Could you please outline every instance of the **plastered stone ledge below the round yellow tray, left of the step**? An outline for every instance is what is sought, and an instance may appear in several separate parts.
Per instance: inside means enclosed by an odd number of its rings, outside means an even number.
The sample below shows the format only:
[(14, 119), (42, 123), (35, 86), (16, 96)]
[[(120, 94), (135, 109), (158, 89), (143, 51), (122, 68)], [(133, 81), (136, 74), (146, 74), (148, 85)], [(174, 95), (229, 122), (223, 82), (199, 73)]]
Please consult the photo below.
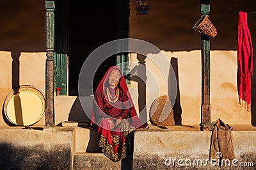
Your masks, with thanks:
[(2, 169), (72, 169), (73, 131), (0, 129)]

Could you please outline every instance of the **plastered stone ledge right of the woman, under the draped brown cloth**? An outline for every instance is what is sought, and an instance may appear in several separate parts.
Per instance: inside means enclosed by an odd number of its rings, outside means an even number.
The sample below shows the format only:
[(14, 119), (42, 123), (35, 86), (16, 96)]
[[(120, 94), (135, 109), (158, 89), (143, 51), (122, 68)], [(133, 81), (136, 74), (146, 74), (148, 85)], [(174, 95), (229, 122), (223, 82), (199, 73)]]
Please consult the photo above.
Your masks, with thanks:
[[(239, 162), (253, 162), (256, 168), (256, 132), (235, 131), (234, 150)], [(165, 166), (166, 158), (176, 160), (207, 160), (211, 144), (211, 132), (172, 131), (172, 130), (136, 130), (134, 132), (133, 169), (220, 169), (218, 166), (173, 167)], [(154, 148), (154, 149), (152, 149)], [(176, 162), (177, 164), (177, 162)], [(230, 167), (228, 167), (230, 169)], [(232, 167), (239, 169), (241, 167)], [(243, 169), (245, 169), (243, 167)]]

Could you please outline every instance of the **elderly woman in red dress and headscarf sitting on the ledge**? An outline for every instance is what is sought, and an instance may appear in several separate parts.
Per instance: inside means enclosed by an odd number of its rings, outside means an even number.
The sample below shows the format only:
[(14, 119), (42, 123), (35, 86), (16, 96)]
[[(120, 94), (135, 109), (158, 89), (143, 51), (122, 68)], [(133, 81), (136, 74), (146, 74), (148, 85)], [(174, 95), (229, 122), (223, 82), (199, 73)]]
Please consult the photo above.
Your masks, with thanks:
[(109, 68), (94, 96), (89, 125), (97, 125), (98, 146), (104, 155), (118, 162), (127, 155), (130, 127), (141, 127), (120, 68)]

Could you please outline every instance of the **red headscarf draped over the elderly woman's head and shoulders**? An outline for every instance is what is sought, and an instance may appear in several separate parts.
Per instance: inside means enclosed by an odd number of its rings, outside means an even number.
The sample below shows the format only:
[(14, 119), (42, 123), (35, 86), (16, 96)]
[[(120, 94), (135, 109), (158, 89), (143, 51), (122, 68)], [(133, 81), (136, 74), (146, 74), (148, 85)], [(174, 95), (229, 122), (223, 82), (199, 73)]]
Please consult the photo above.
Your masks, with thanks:
[[(128, 100), (132, 105), (132, 107), (131, 107), (131, 118), (129, 119), (130, 125), (132, 125), (132, 127), (140, 128), (141, 127), (141, 121), (138, 118), (137, 112), (136, 112), (134, 104), (132, 102), (131, 95), (130, 95), (130, 93), (128, 91), (128, 87), (125, 83), (124, 75), (122, 74), (122, 71), (120, 70), (120, 68), (118, 68), (118, 66), (111, 66), (108, 69), (108, 71), (105, 73), (104, 77), (100, 81), (99, 86), (97, 87), (97, 89), (95, 91), (95, 94), (100, 89), (104, 88), (104, 83), (108, 82), (109, 75), (111, 74), (113, 69), (118, 70), (120, 72), (120, 81), (118, 83), (118, 86), (119, 86), (120, 90), (122, 90), (124, 92), (123, 94), (125, 94), (129, 98)], [(93, 100), (93, 107), (94, 107), (95, 104), (97, 105), (97, 102), (95, 100)], [(93, 107), (92, 107), (92, 115), (91, 115), (90, 122), (89, 122), (90, 124), (95, 123), (95, 112), (94, 112)]]

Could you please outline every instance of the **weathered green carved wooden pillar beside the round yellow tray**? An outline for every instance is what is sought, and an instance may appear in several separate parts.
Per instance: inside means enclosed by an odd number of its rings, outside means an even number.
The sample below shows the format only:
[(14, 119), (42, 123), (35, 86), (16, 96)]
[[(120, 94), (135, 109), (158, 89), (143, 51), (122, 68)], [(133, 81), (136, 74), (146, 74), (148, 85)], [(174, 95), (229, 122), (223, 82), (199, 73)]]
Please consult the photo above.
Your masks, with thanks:
[(54, 126), (53, 50), (54, 1), (45, 1), (46, 72), (45, 72), (45, 126)]

